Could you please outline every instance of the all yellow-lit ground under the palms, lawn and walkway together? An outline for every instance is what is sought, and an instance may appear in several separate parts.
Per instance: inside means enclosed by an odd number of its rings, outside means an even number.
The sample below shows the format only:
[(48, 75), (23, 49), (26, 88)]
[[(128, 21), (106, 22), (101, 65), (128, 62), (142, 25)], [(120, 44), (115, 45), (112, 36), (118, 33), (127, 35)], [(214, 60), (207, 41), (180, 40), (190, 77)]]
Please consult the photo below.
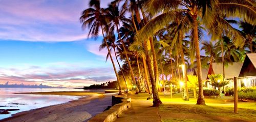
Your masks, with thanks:
[[(148, 94), (131, 95), (132, 108), (124, 112), (117, 121), (254, 121), (256, 102), (239, 102), (238, 114), (233, 113), (232, 97), (205, 99), (206, 106), (196, 105), (196, 99), (190, 95), (189, 101), (183, 101), (181, 94), (165, 97), (159, 93), (163, 105), (150, 107), (152, 100), (146, 101)], [(160, 120), (159, 120), (160, 119)]]

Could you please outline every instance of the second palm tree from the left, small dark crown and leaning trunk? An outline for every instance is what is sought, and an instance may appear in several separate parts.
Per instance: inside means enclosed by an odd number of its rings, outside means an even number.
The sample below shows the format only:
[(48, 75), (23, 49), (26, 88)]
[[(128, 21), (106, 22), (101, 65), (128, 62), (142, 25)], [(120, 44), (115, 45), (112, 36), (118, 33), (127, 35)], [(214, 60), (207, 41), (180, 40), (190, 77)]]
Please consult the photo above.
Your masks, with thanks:
[[(125, 21), (129, 21), (129, 19), (125, 18), (125, 13), (126, 13), (127, 9), (125, 7), (122, 7), (121, 11), (119, 11), (119, 5), (116, 2), (112, 2), (109, 5), (109, 7), (107, 8), (107, 11), (108, 11), (108, 16), (110, 17), (110, 20), (111, 20), (110, 23), (114, 24), (114, 25), (111, 25), (111, 26), (116, 26), (116, 31), (117, 31), (117, 34), (118, 34), (118, 38), (121, 41), (121, 44), (122, 44), (122, 47), (123, 47), (123, 50), (124, 50), (124, 54), (125, 54), (125, 57), (126, 57), (125, 59), (126, 59), (126, 62), (129, 65), (129, 68), (130, 68), (130, 71), (131, 71), (132, 79), (133, 79), (134, 82), (136, 82), (135, 76), (134, 76), (134, 73), (133, 73), (133, 69), (132, 69), (129, 57), (127, 55), (127, 51), (126, 51), (124, 42), (123, 42), (123, 40), (120, 36), (119, 27), (118, 27), (120, 25), (120, 22), (125, 23)], [(137, 86), (136, 86), (136, 89), (138, 89)], [(136, 94), (138, 94), (138, 91), (136, 92)]]

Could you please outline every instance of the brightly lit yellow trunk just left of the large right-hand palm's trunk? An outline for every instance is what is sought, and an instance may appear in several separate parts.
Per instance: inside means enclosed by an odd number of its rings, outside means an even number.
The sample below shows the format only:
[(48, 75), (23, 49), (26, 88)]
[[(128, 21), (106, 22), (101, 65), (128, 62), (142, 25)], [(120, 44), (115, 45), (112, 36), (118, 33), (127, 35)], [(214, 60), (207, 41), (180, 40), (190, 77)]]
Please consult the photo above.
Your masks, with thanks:
[[(181, 34), (181, 32), (180, 32)], [(179, 37), (180, 37), (180, 34), (179, 34)], [(181, 56), (181, 62), (182, 62), (182, 65), (184, 65), (184, 71), (182, 70), (182, 72), (184, 72), (184, 76), (183, 76), (183, 80), (184, 80), (184, 85), (185, 85), (185, 92), (184, 92), (184, 96), (183, 96), (183, 100), (185, 101), (189, 101), (189, 96), (188, 96), (188, 88), (187, 88), (187, 70), (186, 70), (186, 64), (185, 64), (185, 59), (184, 59), (184, 52), (183, 52), (183, 48), (182, 48), (182, 40), (181, 38), (179, 38), (179, 41), (180, 41), (180, 56)]]

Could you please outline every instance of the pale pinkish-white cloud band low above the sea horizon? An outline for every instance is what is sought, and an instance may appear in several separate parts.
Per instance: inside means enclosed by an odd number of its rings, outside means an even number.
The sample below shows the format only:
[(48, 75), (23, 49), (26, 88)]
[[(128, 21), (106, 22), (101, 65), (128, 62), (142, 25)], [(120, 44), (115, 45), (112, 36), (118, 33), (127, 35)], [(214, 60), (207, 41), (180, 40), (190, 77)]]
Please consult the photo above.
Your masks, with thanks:
[(112, 68), (65, 67), (0, 68), (0, 83), (40, 84), (62, 87), (82, 87), (115, 80)]

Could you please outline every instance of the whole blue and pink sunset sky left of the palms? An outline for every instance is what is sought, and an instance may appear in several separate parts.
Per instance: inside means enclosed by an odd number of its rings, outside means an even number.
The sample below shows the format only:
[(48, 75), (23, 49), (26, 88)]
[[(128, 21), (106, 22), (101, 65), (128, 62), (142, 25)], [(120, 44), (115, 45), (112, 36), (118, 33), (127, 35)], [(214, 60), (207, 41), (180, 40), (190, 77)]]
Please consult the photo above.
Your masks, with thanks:
[[(101, 1), (106, 7), (111, 0)], [(115, 80), (102, 37), (79, 17), (89, 0), (0, 0), (0, 84), (82, 87)]]

